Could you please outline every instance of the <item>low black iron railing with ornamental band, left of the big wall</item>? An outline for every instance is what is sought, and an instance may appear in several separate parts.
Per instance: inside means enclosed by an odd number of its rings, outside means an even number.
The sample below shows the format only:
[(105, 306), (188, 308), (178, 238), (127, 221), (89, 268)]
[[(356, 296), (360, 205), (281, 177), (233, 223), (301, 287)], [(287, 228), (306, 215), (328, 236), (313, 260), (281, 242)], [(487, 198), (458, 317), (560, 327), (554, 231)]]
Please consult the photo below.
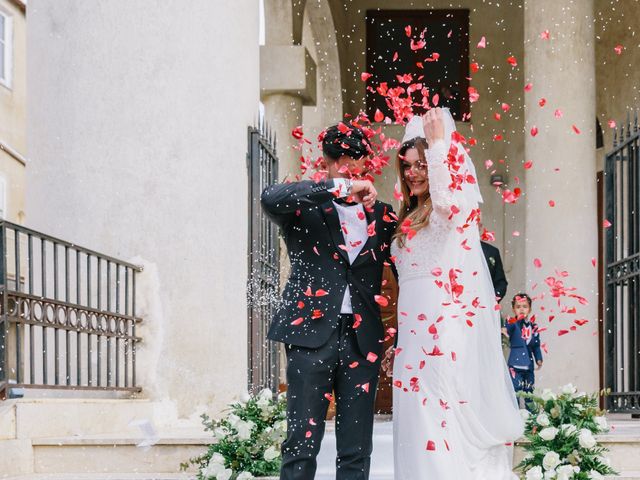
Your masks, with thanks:
[(0, 222), (0, 395), (139, 391), (139, 266)]

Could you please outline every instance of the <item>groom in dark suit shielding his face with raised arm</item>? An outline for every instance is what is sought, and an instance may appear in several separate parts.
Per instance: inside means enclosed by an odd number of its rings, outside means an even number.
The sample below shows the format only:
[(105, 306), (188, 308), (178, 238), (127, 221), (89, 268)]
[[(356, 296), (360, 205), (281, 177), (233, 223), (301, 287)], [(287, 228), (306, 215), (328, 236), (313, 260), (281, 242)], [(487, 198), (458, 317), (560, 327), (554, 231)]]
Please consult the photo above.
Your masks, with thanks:
[[(384, 328), (382, 270), (396, 221), (357, 179), (372, 153), (365, 133), (340, 124), (322, 139), (327, 180), (273, 185), (262, 206), (281, 229), (291, 273), (268, 338), (287, 354), (287, 439), (281, 480), (311, 480), (332, 396), (337, 480), (366, 480)], [(384, 302), (384, 300), (380, 300)]]

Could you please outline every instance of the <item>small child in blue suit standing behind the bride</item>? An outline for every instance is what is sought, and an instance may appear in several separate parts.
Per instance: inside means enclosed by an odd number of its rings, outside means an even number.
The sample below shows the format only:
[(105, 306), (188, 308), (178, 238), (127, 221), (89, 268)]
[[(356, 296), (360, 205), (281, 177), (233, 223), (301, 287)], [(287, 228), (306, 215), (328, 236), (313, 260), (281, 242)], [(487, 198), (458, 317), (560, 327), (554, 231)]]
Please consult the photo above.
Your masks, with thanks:
[[(503, 333), (509, 337), (511, 346), (507, 363), (516, 393), (533, 392), (534, 370), (539, 370), (542, 367), (540, 333), (538, 326), (529, 319), (531, 304), (531, 297), (526, 293), (514, 296), (511, 300), (511, 307), (515, 317), (507, 322), (507, 327), (503, 330)], [(529, 409), (529, 405), (527, 408)]]

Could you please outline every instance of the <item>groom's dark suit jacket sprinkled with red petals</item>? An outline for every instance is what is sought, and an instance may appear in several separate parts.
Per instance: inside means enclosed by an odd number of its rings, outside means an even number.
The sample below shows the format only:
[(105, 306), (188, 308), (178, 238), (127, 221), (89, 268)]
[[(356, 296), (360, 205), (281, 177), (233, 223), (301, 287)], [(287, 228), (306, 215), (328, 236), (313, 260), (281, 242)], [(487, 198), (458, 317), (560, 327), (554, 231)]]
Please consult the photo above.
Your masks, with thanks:
[(345, 288), (349, 285), (358, 346), (363, 355), (382, 353), (384, 328), (375, 296), (380, 294), (382, 269), (389, 262), (396, 228), (392, 207), (376, 202), (365, 214), (370, 235), (349, 263), (340, 219), (328, 189), (333, 180), (301, 181), (267, 187), (262, 193), (266, 214), (281, 229), (291, 272), (269, 329), (271, 340), (319, 348), (338, 325)]

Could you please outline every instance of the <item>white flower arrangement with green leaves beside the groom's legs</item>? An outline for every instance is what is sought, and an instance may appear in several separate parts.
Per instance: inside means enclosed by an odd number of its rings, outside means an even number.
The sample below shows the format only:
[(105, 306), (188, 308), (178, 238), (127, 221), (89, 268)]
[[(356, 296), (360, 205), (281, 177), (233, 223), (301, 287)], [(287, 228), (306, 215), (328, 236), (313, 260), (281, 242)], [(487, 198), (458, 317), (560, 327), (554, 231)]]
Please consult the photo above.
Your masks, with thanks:
[(250, 480), (278, 475), (280, 446), (287, 435), (286, 398), (274, 399), (269, 389), (246, 402), (229, 406), (220, 420), (202, 415), (205, 430), (213, 434), (207, 452), (182, 464), (198, 467), (198, 480)]

